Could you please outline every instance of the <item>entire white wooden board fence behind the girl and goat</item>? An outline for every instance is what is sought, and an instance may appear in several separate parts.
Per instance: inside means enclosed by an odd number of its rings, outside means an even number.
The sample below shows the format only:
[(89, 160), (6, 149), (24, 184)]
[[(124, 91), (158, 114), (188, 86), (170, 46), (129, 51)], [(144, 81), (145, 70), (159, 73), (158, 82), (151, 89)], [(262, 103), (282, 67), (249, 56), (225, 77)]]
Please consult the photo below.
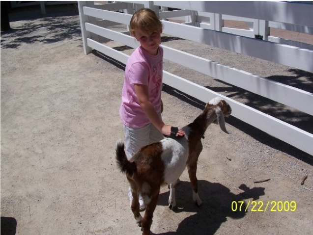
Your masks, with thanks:
[[(133, 0), (100, 5), (95, 5), (93, 1), (78, 1), (78, 5), (85, 54), (95, 49), (126, 64), (129, 56), (102, 44), (101, 38), (108, 38), (132, 48), (138, 47), (129, 33), (116, 32), (106, 27), (117, 24), (128, 25), (134, 10), (148, 7), (159, 14), (160, 19), (163, 19), (163, 32), (166, 34), (313, 73), (313, 50), (310, 50), (309, 45), (308, 48), (304, 49), (266, 40), (257, 40), (254, 37), (247, 37), (247, 35), (229, 34), (231, 32), (229, 29), (223, 29), (223, 18), (230, 19), (229, 16), (232, 16), (232, 20), (237, 18), (248, 21), (249, 19), (249, 21), (254, 22), (256, 25), (254, 26), (254, 33), (257, 31), (259, 35), (263, 34), (264, 39), (269, 39), (269, 30), (267, 29), (269, 24), (312, 34), (313, 4), (282, 1)], [(181, 10), (167, 11), (168, 7)], [(162, 9), (161, 12), (159, 12), (159, 8)], [(120, 10), (124, 10), (126, 13), (116, 12)], [(167, 21), (173, 17), (188, 17), (190, 22), (179, 24)], [(211, 28), (208, 29), (209, 27)], [(212, 27), (214, 30), (211, 30)], [(233, 31), (231, 33), (238, 34), (238, 32)], [(244, 33), (239, 34), (244, 35)], [(308, 115), (313, 115), (313, 94), (310, 92), (235, 68), (229, 68), (164, 45), (163, 48), (165, 59), (281, 104), (289, 105)], [(256, 50), (257, 48), (261, 50)], [(232, 106), (234, 117), (313, 155), (313, 134), (307, 131), (167, 71), (163, 72), (163, 81), (165, 84), (202, 102), (207, 102), (208, 99), (216, 96), (223, 97)]]

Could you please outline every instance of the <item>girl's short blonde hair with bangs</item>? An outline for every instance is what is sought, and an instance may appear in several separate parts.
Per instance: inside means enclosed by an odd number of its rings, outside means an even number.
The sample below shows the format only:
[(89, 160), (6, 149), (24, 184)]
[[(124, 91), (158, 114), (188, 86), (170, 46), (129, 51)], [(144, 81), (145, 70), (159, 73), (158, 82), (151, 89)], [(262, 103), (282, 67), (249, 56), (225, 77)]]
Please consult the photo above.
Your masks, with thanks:
[(149, 8), (142, 8), (134, 13), (130, 20), (130, 34), (135, 36), (136, 28), (146, 32), (160, 31), (162, 33), (163, 25), (154, 11)]

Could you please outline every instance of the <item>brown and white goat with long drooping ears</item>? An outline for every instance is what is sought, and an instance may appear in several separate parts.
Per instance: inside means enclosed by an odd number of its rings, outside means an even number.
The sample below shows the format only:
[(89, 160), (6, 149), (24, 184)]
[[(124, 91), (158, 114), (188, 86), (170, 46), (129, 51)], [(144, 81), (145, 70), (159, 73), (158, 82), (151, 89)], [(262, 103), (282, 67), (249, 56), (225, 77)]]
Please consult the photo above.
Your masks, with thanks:
[[(159, 142), (142, 147), (128, 160), (124, 143), (116, 143), (116, 162), (122, 173), (126, 174), (133, 195), (131, 209), (136, 222), (142, 226), (142, 235), (150, 234), (154, 209), (156, 208), (161, 185), (170, 184), (169, 208), (176, 206), (175, 186), (186, 166), (192, 185), (193, 200), (198, 206), (202, 201), (198, 195), (197, 162), (202, 151), (201, 137), (208, 126), (216, 121), (222, 131), (225, 128), (224, 116), (231, 114), (229, 104), (216, 97), (205, 105), (203, 112), (189, 125), (182, 128), (186, 132), (182, 138), (165, 138)], [(141, 193), (146, 205), (142, 218), (139, 211), (138, 196)]]

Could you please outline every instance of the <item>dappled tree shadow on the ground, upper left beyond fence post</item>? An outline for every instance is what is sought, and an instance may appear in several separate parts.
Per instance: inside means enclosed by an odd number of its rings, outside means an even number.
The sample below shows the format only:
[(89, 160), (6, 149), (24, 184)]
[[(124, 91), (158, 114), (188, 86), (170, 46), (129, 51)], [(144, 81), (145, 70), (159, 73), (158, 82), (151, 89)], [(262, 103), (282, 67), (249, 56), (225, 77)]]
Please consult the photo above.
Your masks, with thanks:
[[(9, 17), (13, 13), (15, 11), (11, 12)], [(37, 16), (36, 9), (31, 8), (27, 13), (32, 14), (15, 16), (15, 21), (19, 22), (11, 24), (11, 29), (0, 33), (1, 49), (18, 49), (22, 44), (29, 43), (49, 44), (64, 40), (82, 40), (79, 17), (73, 17), (71, 14), (67, 16), (66, 10)]]

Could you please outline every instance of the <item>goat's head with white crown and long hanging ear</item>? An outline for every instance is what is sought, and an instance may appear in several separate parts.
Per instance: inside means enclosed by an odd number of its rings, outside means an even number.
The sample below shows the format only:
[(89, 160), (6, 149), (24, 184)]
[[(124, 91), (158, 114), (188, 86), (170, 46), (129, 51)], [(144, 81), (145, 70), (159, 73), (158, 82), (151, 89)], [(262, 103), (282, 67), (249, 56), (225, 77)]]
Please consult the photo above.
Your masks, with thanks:
[[(220, 125), (221, 130), (224, 131), (225, 133), (228, 133), (225, 127), (224, 117), (228, 117), (231, 114), (230, 105), (221, 97), (216, 97), (210, 100), (209, 103), (205, 105), (205, 109), (207, 109), (207, 118), (211, 119), (208, 122), (208, 125), (211, 122), (216, 124), (218, 123)], [(213, 112), (216, 113), (216, 118), (215, 116), (214, 117), (212, 116)], [(212, 117), (214, 118), (214, 120), (212, 120)]]

